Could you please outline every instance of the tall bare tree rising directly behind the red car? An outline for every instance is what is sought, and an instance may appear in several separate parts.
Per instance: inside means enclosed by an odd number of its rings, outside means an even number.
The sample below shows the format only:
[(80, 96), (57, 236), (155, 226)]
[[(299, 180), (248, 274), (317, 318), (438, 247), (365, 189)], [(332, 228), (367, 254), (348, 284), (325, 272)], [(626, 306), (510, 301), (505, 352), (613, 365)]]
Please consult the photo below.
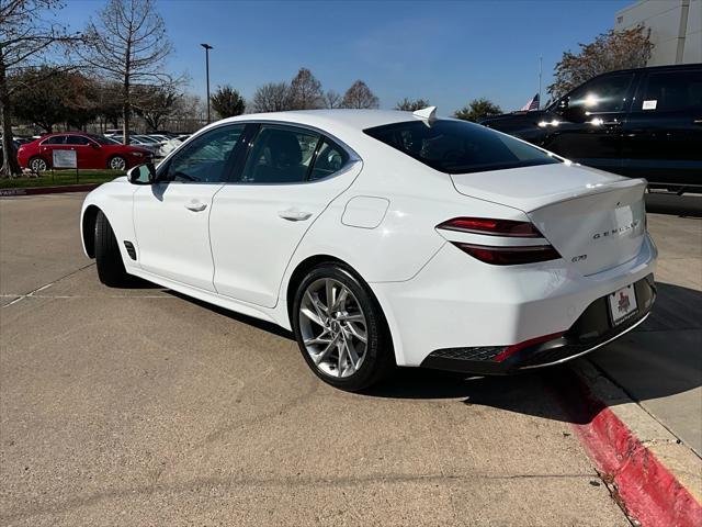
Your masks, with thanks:
[(172, 47), (155, 0), (107, 0), (86, 29), (89, 47), (83, 59), (122, 85), (124, 144), (129, 144), (129, 117), (135, 85), (163, 86), (173, 79), (163, 70)]

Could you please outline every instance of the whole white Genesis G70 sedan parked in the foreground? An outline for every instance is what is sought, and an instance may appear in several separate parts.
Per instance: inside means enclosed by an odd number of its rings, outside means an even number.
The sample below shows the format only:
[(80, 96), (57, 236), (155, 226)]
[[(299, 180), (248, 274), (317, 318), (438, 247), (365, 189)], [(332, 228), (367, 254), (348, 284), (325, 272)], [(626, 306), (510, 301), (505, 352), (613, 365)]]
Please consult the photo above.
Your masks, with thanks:
[(86, 254), (295, 334), (324, 381), (559, 363), (656, 292), (646, 182), (434, 109), (249, 114), (92, 191)]

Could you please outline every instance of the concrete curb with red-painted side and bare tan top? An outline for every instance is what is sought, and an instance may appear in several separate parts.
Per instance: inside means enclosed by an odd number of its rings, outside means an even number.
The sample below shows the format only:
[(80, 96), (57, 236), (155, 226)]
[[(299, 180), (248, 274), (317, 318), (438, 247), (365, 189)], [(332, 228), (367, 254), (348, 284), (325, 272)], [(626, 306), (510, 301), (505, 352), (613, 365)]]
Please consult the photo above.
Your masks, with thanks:
[(702, 460), (589, 361), (571, 370), (577, 390), (563, 388), (574, 427), (630, 518), (644, 527), (702, 525)]

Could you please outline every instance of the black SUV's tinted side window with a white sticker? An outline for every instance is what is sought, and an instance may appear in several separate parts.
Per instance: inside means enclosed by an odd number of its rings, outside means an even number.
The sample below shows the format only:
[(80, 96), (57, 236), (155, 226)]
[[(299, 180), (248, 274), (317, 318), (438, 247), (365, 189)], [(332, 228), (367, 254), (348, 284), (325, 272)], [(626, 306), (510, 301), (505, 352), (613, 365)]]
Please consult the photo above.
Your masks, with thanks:
[(675, 112), (702, 109), (702, 70), (650, 74), (637, 110)]

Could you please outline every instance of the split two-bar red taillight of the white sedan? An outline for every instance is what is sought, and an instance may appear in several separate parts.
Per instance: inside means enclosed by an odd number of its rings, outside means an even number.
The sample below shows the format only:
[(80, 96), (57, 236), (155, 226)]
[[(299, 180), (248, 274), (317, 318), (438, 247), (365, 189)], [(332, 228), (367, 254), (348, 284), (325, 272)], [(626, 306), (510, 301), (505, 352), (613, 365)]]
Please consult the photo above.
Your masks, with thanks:
[[(437, 225), (444, 231), (500, 236), (505, 238), (543, 238), (544, 235), (530, 222), (492, 220), (485, 217), (454, 217)], [(545, 242), (545, 239), (544, 239)], [(494, 266), (517, 266), (561, 258), (551, 244), (543, 245), (483, 245), (451, 240), (453, 245), (472, 257)]]

